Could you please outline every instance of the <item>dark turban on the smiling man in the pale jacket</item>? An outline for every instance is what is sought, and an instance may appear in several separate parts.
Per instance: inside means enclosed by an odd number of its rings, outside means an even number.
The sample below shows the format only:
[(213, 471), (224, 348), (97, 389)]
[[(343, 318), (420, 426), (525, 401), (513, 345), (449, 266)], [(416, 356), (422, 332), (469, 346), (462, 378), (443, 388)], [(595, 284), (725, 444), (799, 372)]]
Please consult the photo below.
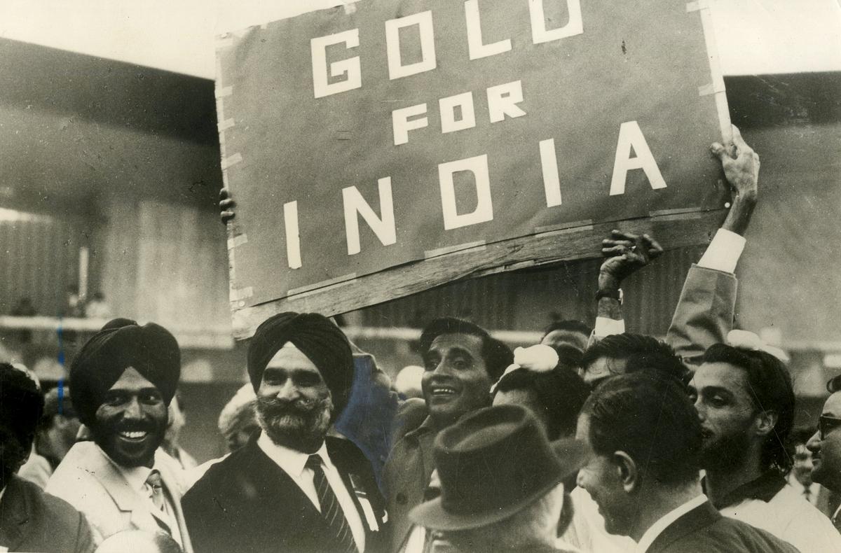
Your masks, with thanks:
[(105, 392), (130, 366), (154, 384), (169, 405), (181, 377), (175, 337), (158, 324), (114, 319), (87, 340), (70, 366), (73, 408), (83, 424), (96, 422)]

